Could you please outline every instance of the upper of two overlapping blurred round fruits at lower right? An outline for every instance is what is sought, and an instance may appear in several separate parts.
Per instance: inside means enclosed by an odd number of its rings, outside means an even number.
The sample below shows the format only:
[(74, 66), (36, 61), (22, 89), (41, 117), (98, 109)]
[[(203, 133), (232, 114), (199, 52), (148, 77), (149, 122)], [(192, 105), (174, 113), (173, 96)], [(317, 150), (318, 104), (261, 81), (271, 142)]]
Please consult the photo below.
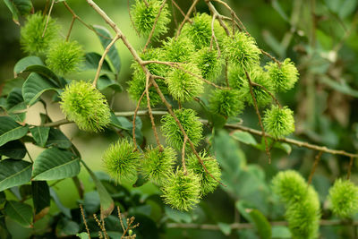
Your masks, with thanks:
[(272, 190), (280, 201), (286, 204), (302, 201), (307, 194), (307, 184), (303, 176), (294, 170), (279, 172), (272, 179)]

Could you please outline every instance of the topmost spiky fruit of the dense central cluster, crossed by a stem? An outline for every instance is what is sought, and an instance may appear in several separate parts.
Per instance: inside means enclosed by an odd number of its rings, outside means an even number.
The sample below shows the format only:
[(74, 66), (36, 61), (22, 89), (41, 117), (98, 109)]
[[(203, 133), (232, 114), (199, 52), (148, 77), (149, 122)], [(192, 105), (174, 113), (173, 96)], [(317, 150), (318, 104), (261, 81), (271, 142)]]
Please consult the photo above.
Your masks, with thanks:
[[(212, 36), (211, 21), (212, 17), (207, 13), (195, 14), (195, 16), (192, 18), (192, 23), (187, 22), (183, 26), (183, 37), (189, 38), (196, 49), (209, 47)], [(217, 41), (219, 44), (221, 44), (222, 39), (225, 36), (225, 30), (220, 26), (217, 20), (214, 21), (214, 32), (215, 36), (217, 37)]]

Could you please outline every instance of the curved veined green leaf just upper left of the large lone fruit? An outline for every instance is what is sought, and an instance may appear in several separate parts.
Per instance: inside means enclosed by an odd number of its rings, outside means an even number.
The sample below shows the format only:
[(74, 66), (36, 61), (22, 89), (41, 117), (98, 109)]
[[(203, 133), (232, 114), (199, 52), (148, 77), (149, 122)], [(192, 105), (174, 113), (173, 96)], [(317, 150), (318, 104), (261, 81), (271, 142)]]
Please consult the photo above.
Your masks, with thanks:
[(38, 73), (30, 73), (28, 79), (22, 86), (22, 97), (26, 104), (32, 106), (38, 101), (38, 98), (47, 90), (55, 90), (58, 94), (60, 86), (52, 80), (39, 75)]

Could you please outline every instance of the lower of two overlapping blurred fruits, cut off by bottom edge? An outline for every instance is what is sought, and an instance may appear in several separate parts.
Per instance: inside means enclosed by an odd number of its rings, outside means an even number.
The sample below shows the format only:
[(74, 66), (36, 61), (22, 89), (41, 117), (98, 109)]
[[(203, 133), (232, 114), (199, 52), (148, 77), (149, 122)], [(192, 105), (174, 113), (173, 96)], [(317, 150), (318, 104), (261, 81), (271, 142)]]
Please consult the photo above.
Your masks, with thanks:
[(317, 192), (312, 193), (311, 197), (290, 204), (286, 210), (286, 220), (292, 238), (317, 238), (320, 228), (320, 201)]

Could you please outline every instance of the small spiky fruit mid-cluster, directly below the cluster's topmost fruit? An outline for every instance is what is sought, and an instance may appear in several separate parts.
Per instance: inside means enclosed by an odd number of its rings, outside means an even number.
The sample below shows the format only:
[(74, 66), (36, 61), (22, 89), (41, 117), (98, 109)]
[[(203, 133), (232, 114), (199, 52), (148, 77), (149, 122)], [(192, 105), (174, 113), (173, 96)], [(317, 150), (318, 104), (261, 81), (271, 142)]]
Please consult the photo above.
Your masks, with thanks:
[(223, 61), (218, 57), (218, 52), (209, 47), (200, 49), (195, 57), (201, 76), (208, 81), (217, 81), (217, 77), (221, 73)]

